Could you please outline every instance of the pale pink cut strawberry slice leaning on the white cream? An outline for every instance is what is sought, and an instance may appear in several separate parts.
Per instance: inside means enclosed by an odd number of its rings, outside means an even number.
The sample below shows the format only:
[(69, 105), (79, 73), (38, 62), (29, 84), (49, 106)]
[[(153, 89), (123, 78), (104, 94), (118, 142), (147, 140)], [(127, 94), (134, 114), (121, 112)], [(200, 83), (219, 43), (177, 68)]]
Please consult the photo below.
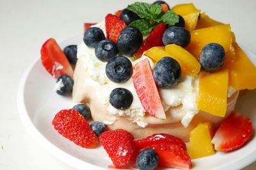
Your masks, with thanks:
[(148, 59), (134, 66), (132, 81), (144, 110), (153, 117), (166, 119)]

